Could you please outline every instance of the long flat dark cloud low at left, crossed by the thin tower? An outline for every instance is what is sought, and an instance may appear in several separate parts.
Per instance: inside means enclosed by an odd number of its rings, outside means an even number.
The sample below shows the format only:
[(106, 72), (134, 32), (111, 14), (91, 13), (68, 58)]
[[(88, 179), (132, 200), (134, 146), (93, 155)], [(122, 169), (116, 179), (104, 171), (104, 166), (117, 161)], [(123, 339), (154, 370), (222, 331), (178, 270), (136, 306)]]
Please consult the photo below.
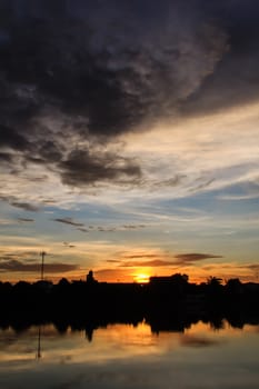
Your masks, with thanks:
[[(77, 265), (69, 263), (46, 263), (44, 271), (49, 273), (53, 272), (67, 272), (77, 270)], [(0, 272), (40, 272), (40, 265), (37, 262), (22, 262), (20, 260), (1, 260)]]

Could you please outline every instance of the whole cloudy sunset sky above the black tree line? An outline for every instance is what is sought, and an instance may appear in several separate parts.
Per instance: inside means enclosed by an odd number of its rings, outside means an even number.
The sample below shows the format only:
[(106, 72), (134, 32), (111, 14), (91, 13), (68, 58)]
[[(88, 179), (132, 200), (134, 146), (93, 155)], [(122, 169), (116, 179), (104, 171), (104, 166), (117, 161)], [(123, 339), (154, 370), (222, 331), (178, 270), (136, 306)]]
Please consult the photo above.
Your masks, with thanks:
[(258, 20), (0, 0), (0, 280), (258, 281)]

